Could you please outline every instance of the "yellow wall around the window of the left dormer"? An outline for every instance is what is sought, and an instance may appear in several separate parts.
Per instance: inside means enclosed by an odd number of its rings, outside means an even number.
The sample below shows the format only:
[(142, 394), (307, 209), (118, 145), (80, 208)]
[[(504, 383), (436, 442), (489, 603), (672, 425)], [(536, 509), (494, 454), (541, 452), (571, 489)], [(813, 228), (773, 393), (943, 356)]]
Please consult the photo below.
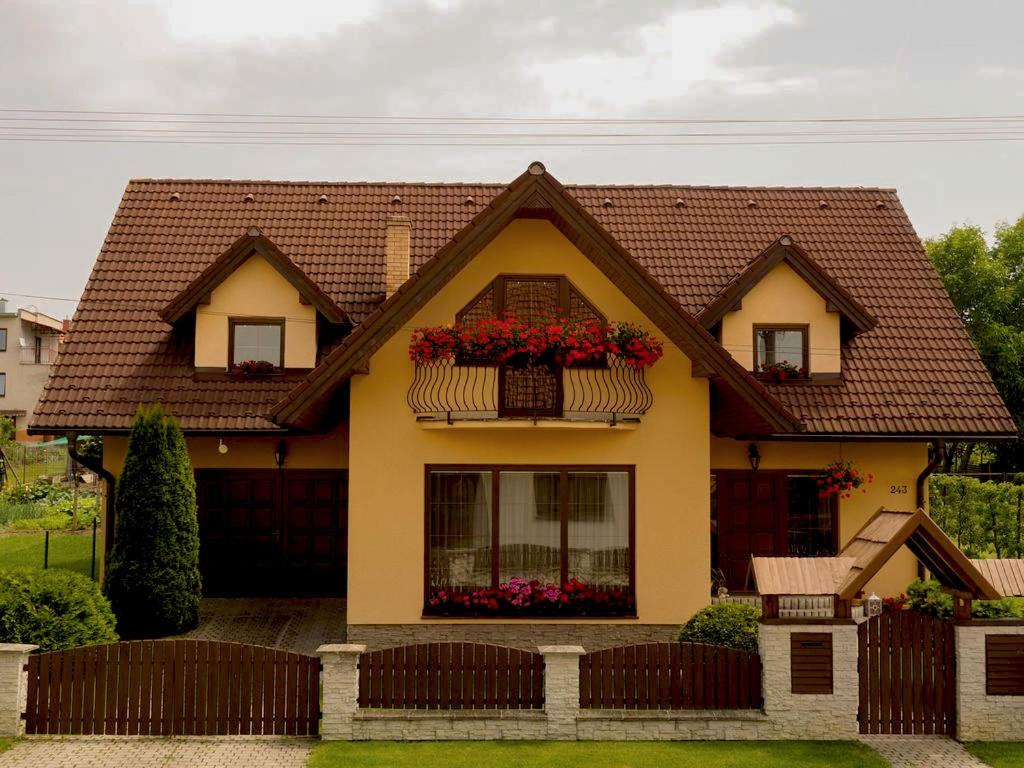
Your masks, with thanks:
[(229, 317), (284, 317), (285, 368), (316, 365), (316, 310), (262, 256), (251, 256), (196, 309), (196, 367), (227, 368)]

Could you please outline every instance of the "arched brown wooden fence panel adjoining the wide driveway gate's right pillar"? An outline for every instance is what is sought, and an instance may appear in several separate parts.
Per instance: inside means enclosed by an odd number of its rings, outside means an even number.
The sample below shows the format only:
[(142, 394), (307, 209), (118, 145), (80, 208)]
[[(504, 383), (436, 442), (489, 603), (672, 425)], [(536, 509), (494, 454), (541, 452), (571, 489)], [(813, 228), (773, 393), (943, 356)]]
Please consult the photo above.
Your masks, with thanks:
[(359, 707), (539, 710), (540, 653), (481, 643), (429, 643), (359, 655)]

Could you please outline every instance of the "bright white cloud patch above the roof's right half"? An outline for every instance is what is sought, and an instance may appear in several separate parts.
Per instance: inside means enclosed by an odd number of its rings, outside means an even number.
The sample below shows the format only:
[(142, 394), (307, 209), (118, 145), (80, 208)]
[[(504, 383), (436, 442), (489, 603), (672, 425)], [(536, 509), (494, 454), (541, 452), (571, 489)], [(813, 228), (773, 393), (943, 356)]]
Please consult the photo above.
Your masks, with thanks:
[(812, 78), (756, 78), (724, 63), (729, 54), (772, 30), (797, 25), (796, 12), (775, 3), (728, 3), (675, 10), (636, 28), (616, 49), (527, 65), (564, 112), (612, 111), (678, 103), (681, 97), (725, 86), (738, 95), (806, 89)]

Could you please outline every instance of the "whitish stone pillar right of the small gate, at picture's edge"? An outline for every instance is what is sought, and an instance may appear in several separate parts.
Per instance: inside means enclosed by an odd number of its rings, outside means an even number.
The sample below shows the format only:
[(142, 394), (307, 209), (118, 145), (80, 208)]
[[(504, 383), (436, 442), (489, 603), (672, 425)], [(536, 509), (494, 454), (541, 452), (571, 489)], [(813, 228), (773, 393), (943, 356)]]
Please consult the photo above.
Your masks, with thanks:
[(1024, 738), (1024, 695), (988, 693), (985, 645), (989, 636), (1017, 637), (1024, 643), (1024, 624), (992, 620), (956, 627), (956, 738), (1020, 741)]

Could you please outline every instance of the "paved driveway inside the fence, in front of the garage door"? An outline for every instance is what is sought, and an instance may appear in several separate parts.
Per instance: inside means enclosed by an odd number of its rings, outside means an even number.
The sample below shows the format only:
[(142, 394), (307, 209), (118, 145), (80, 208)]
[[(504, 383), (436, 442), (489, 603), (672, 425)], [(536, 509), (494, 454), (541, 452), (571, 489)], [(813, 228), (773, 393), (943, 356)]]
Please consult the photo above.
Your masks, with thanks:
[(341, 598), (207, 597), (199, 627), (184, 637), (315, 653), (325, 643), (345, 642), (346, 633)]

